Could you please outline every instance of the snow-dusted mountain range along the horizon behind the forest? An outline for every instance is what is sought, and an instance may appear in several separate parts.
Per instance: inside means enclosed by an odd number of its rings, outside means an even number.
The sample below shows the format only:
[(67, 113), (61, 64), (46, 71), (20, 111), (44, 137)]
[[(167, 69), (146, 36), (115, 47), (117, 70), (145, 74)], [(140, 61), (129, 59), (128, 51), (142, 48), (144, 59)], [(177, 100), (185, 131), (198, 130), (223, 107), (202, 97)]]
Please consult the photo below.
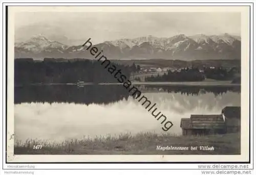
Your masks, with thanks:
[[(93, 39), (92, 39), (93, 41)], [(85, 42), (85, 41), (84, 41)], [(69, 46), (36, 35), (14, 45), (15, 58), (87, 58), (94, 59), (87, 46)], [(95, 44), (108, 59), (210, 60), (241, 59), (241, 38), (229, 35), (184, 34), (159, 38), (154, 36), (118, 39)]]

